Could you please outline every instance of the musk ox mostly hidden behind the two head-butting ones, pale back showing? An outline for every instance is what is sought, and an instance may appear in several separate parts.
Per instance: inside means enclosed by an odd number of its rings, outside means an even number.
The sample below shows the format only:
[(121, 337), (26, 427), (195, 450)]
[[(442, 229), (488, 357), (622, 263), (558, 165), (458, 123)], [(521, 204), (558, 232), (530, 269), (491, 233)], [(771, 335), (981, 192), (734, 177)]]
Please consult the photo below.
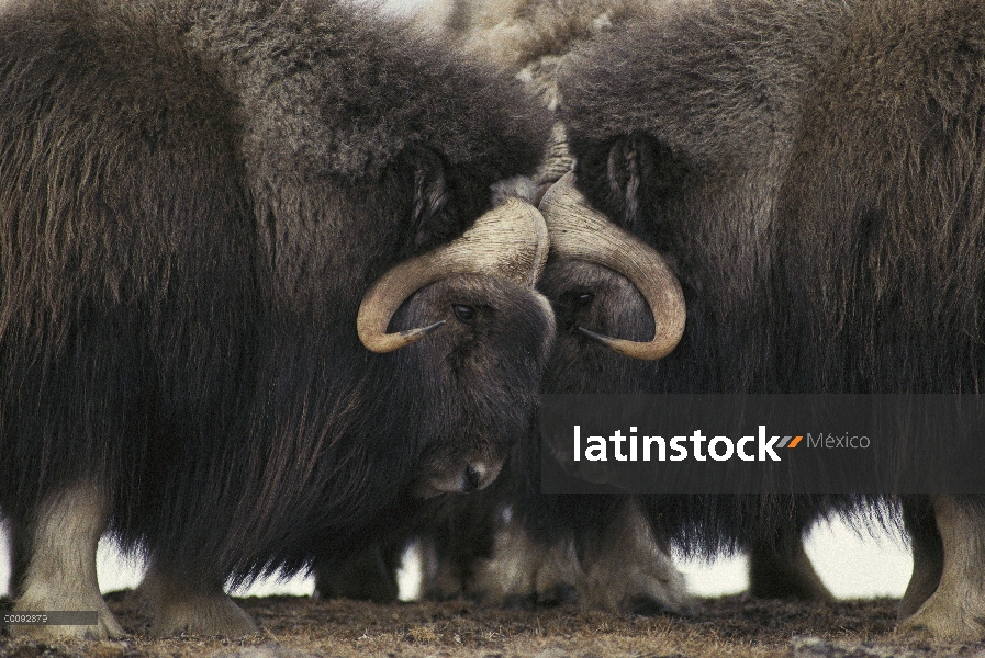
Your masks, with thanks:
[[(556, 71), (564, 54), (573, 44), (639, 14), (646, 5), (641, 0), (439, 0), (425, 5), (415, 22), (516, 76), (556, 111)], [(551, 145), (533, 177), (538, 189), (517, 188), (515, 193), (536, 203), (570, 168), (563, 126), (556, 122)], [(595, 241), (594, 235), (586, 238)], [(524, 463), (535, 449), (536, 444), (518, 443), (512, 462)], [(400, 514), (390, 515), (390, 532), (371, 537), (377, 543), (358, 554), (342, 559), (331, 553), (320, 555), (314, 564), (316, 592), (326, 598), (395, 600), (400, 556), (415, 542), (425, 563), (425, 598), (466, 594), (526, 606), (577, 597), (586, 608), (620, 606), (616, 598), (630, 601), (637, 610), (684, 604), (683, 579), (669, 561), (665, 543), (654, 544), (637, 506), (625, 501), (625, 509), (616, 514), (620, 522), (606, 531), (607, 541), (597, 543), (593, 556), (579, 558), (574, 537), (558, 537), (546, 548), (527, 537), (522, 524), (506, 520), (508, 500), (516, 495), (517, 483), (512, 480), (523, 477), (508, 463), (506, 472), (512, 475), (479, 496), (434, 499), (410, 514), (402, 507)]]

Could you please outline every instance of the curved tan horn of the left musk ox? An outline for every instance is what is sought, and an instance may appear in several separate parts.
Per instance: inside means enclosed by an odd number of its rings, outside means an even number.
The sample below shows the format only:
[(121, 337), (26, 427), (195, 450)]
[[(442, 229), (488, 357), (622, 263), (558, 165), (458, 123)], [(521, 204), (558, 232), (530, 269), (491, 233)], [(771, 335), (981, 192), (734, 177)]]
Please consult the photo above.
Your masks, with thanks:
[(429, 283), (454, 274), (492, 274), (533, 287), (549, 249), (547, 225), (534, 206), (507, 198), (475, 220), (460, 238), (389, 270), (370, 286), (356, 327), (359, 340), (372, 352), (392, 352), (445, 324), (387, 333), (396, 309)]

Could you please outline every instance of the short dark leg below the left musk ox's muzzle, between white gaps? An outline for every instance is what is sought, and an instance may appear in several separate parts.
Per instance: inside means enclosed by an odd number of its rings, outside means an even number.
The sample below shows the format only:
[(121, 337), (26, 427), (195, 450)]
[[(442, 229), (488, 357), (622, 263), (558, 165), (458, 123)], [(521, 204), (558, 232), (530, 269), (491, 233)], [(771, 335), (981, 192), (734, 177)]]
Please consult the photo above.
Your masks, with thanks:
[(320, 599), (344, 598), (388, 603), (396, 601), (400, 593), (394, 565), (388, 564), (384, 548), (380, 545), (370, 546), (338, 564), (317, 560), (312, 570), (315, 575), (315, 595)]

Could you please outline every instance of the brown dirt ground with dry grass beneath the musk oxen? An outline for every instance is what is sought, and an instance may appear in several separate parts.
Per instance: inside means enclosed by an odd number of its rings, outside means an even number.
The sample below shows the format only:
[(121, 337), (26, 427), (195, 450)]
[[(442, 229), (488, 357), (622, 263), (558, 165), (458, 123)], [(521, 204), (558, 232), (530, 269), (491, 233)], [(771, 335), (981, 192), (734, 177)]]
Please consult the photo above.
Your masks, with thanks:
[[(109, 594), (132, 633), (123, 640), (43, 644), (0, 636), (0, 657), (306, 658), (309, 656), (641, 658), (985, 658), (985, 643), (940, 644), (894, 634), (896, 601), (836, 604), (699, 600), (683, 615), (580, 612), (574, 605), (500, 610), (469, 601), (377, 605), (303, 597), (242, 599), (260, 635), (239, 639), (188, 636), (154, 639), (131, 592)], [(10, 600), (0, 599), (0, 609)]]

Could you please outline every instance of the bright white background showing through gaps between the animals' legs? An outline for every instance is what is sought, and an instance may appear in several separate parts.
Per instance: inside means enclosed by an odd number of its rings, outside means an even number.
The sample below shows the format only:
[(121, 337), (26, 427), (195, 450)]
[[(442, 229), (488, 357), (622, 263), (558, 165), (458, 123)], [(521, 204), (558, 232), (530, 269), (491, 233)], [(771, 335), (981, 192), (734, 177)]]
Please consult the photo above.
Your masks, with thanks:
[[(2, 3), (2, 0), (0, 0)], [(413, 11), (426, 0), (387, 0), (384, 7), (396, 12)], [(848, 525), (836, 522), (816, 526), (807, 541), (807, 555), (815, 569), (839, 598), (889, 595), (902, 597), (913, 571), (909, 551), (898, 536), (880, 533), (876, 537), (860, 536)], [(402, 597), (408, 598), (416, 591), (419, 569), (416, 560), (404, 569), (401, 579)], [(732, 557), (718, 559), (712, 564), (676, 560), (684, 572), (692, 593), (718, 595), (740, 592), (746, 589), (746, 559)], [(141, 579), (143, 567), (126, 560), (107, 542), (100, 543), (98, 555), (99, 581), (102, 591), (113, 591), (135, 587)], [(8, 591), (10, 559), (7, 536), (0, 537), (0, 593)], [(311, 594), (314, 580), (295, 577), (284, 581), (266, 580), (255, 583), (238, 595), (269, 595), (273, 593)]]

